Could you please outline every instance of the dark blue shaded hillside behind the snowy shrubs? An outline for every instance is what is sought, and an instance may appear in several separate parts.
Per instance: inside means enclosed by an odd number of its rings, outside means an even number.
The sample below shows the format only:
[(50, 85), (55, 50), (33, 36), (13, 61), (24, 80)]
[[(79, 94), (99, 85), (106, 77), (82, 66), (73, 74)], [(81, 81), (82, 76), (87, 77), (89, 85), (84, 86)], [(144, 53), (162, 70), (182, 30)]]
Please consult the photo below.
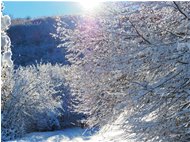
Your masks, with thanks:
[[(61, 18), (69, 22), (71, 17)], [(11, 38), (12, 59), (16, 67), (39, 62), (68, 64), (64, 48), (57, 48), (59, 41), (50, 35), (56, 32), (55, 17), (14, 19), (11, 23), (8, 35)]]

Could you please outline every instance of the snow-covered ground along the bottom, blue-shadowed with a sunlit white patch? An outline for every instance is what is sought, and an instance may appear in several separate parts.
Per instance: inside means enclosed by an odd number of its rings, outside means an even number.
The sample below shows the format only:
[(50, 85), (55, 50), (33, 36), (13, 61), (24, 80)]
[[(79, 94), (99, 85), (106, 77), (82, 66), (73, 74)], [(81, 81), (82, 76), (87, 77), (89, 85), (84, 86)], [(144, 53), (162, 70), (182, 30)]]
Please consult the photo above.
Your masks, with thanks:
[(104, 126), (92, 135), (86, 129), (74, 127), (61, 131), (34, 132), (11, 142), (134, 142), (122, 138), (124, 131), (117, 125), (122, 119), (120, 116), (113, 124)]

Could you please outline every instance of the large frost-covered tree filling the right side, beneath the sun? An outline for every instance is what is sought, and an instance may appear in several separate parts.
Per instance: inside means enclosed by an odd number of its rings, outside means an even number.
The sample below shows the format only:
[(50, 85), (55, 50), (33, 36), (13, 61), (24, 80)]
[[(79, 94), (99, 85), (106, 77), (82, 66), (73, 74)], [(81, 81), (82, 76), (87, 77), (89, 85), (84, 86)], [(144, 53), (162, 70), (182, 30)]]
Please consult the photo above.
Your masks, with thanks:
[(137, 141), (188, 141), (190, 3), (118, 2), (77, 21), (58, 22), (78, 112), (104, 125), (128, 111), (123, 128)]

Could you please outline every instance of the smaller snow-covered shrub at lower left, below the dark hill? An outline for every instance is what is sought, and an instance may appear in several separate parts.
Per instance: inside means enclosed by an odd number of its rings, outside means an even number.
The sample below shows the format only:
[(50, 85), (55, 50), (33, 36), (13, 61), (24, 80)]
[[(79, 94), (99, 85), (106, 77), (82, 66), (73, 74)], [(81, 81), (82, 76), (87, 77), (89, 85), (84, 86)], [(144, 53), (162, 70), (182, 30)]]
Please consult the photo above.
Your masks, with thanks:
[(12, 70), (4, 82), (9, 89), (2, 88), (9, 97), (2, 107), (2, 140), (63, 127), (61, 116), (68, 115), (71, 101), (66, 73), (66, 67), (51, 64)]

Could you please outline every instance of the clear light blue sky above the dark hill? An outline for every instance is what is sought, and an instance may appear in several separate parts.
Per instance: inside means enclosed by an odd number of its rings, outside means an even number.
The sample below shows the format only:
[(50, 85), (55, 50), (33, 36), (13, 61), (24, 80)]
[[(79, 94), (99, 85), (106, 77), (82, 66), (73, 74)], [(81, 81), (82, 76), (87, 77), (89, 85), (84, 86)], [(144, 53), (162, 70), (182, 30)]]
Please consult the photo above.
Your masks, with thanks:
[(28, 16), (37, 18), (41, 16), (56, 16), (78, 14), (82, 8), (77, 2), (53, 2), (53, 1), (5, 1), (4, 14), (13, 18), (26, 18)]

